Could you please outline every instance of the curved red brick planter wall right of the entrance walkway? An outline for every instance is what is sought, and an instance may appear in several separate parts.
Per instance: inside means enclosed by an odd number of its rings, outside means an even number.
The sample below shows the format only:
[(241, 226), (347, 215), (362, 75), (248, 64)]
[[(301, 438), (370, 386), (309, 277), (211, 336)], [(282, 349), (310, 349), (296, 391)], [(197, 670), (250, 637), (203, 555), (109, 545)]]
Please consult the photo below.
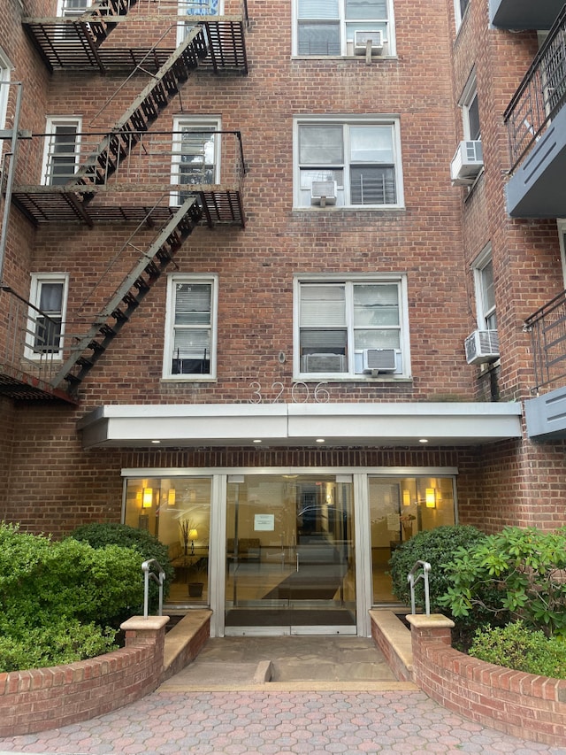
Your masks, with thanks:
[(454, 650), (453, 622), (439, 614), (407, 617), (414, 681), (440, 705), (514, 736), (566, 742), (566, 680), (524, 674)]

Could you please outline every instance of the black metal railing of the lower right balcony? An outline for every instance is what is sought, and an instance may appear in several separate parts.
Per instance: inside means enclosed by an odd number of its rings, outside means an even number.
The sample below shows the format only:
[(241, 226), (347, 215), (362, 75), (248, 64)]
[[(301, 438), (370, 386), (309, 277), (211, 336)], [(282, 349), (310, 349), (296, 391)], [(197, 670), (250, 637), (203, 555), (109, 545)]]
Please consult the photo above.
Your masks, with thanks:
[(531, 334), (535, 386), (532, 393), (566, 376), (566, 291), (524, 321)]

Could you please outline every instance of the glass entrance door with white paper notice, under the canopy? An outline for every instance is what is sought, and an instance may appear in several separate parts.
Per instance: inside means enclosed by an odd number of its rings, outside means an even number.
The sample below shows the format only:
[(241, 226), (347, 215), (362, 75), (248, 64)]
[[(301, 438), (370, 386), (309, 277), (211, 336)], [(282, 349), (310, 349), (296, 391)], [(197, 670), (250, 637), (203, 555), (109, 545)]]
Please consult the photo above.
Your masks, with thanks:
[(352, 483), (238, 479), (227, 486), (226, 635), (356, 634)]

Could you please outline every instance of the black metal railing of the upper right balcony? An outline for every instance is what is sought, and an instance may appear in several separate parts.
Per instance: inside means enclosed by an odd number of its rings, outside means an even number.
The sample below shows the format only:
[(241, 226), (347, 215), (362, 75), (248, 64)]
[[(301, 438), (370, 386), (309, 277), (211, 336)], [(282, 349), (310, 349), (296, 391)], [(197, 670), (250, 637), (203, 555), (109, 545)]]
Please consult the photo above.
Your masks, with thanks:
[(509, 140), (509, 173), (539, 141), (565, 103), (566, 5), (503, 114)]

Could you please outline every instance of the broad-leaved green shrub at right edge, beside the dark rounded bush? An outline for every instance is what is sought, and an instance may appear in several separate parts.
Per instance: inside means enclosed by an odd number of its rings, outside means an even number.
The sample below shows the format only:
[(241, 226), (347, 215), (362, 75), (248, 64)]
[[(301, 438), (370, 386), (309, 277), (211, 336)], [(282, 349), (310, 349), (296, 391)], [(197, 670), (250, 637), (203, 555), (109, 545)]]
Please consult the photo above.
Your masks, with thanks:
[(447, 572), (450, 587), (440, 604), (455, 617), (481, 610), (492, 623), (509, 616), (566, 638), (566, 528), (506, 527), (457, 551)]

